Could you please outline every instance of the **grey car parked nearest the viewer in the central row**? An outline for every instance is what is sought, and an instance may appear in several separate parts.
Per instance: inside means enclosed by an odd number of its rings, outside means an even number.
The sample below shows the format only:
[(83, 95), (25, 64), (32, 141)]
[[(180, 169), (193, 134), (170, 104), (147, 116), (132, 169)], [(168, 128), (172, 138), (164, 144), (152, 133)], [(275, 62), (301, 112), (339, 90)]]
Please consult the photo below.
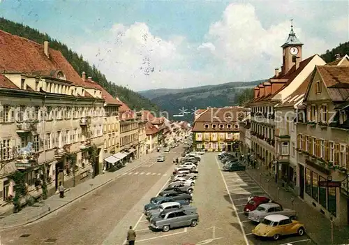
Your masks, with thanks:
[(168, 232), (172, 228), (191, 225), (192, 227), (198, 225), (199, 214), (195, 211), (183, 211), (177, 209), (176, 211), (163, 211), (158, 217), (151, 220), (149, 228), (154, 230), (163, 230)]

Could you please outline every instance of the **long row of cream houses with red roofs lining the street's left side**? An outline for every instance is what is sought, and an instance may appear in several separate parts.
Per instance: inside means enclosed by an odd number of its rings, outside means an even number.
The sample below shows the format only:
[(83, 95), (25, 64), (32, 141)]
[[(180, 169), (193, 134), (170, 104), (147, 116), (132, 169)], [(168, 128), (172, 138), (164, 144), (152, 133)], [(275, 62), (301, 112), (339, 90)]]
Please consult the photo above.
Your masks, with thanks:
[(59, 184), (115, 169), (186, 131), (184, 122), (131, 110), (48, 42), (0, 31), (0, 57), (1, 210), (15, 195), (17, 171), (29, 195), (42, 195), (43, 181), (50, 195)]

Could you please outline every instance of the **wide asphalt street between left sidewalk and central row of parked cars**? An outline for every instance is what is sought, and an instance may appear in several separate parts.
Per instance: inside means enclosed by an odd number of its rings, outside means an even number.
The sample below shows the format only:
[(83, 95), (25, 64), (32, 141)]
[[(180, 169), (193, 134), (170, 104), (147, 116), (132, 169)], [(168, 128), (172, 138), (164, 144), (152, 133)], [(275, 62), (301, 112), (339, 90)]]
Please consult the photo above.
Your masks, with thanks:
[(116, 242), (117, 239), (124, 241), (128, 226), (134, 225), (139, 217), (139, 212), (132, 211), (134, 206), (151, 188), (156, 188), (155, 193), (149, 193), (152, 196), (163, 186), (170, 177), (167, 175), (173, 168), (173, 158), (179, 152), (181, 149), (172, 149), (165, 154), (166, 161), (163, 163), (156, 163), (154, 158), (140, 165), (43, 221), (1, 232), (1, 244), (103, 244), (114, 228), (124, 223), (111, 243), (122, 244)]

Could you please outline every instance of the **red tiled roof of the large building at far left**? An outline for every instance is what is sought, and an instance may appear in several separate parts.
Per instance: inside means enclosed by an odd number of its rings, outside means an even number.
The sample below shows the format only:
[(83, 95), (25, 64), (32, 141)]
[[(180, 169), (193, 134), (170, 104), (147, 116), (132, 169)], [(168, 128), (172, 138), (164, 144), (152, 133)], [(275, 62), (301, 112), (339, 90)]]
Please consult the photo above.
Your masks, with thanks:
[(49, 48), (50, 58), (43, 45), (0, 30), (0, 72), (50, 75), (62, 70), (66, 80), (81, 85), (82, 79), (61, 52)]

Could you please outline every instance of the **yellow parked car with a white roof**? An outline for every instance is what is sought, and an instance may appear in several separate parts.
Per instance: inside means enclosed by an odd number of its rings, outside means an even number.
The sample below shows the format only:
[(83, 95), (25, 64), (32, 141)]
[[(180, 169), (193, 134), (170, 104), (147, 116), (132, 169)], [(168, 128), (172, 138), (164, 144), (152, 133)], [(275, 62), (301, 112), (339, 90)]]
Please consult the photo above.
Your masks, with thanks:
[(257, 237), (272, 237), (279, 240), (281, 236), (298, 234), (304, 235), (304, 224), (294, 221), (288, 216), (272, 214), (266, 216), (253, 230), (253, 235)]

